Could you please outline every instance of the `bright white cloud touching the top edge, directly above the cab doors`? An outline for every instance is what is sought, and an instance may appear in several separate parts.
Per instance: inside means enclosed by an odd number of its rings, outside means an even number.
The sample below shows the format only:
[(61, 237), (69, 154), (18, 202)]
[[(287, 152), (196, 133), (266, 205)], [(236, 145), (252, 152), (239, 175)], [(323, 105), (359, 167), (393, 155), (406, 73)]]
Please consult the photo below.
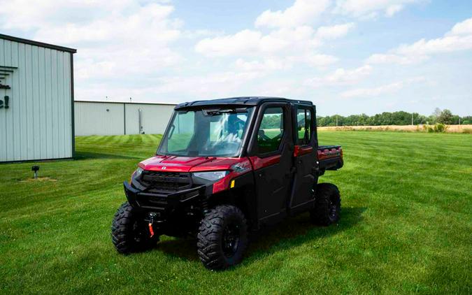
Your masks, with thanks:
[(285, 10), (266, 10), (257, 17), (256, 27), (298, 27), (310, 24), (329, 6), (329, 0), (296, 0)]

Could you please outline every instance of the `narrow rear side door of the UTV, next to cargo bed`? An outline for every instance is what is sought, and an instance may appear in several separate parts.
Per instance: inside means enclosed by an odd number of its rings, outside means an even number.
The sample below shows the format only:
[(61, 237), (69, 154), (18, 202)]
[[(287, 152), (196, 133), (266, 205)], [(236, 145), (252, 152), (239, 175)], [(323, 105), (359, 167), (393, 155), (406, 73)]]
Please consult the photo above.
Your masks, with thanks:
[(317, 143), (313, 106), (296, 105), (293, 113), (294, 176), (288, 207), (290, 213), (297, 213), (313, 206)]

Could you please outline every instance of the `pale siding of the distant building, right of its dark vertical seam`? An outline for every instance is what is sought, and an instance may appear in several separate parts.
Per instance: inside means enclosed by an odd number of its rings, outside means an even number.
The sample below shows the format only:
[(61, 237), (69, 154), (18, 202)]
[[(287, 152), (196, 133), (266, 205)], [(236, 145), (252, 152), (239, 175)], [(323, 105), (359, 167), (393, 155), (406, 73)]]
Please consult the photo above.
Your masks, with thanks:
[(163, 134), (175, 106), (129, 104), (126, 105), (126, 134), (139, 134), (139, 110), (145, 134)]

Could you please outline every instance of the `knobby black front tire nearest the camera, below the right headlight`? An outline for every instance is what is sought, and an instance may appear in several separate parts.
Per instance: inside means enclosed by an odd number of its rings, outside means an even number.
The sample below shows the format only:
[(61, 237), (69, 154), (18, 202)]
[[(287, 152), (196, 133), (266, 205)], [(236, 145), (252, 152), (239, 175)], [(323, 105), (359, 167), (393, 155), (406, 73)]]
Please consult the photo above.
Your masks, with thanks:
[(248, 247), (244, 214), (235, 206), (216, 206), (201, 220), (196, 239), (197, 252), (206, 268), (223, 270), (238, 264)]

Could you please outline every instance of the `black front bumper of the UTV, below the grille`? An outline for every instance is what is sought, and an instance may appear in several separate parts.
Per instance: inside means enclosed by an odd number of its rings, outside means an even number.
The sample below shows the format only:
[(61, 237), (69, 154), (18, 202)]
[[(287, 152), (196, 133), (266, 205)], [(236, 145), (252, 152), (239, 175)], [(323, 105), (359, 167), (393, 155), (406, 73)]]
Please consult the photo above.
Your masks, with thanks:
[(127, 181), (123, 182), (124, 194), (129, 204), (140, 210), (146, 211), (172, 211), (176, 210), (184, 203), (191, 203), (197, 199), (206, 197), (207, 185), (200, 185), (190, 189), (183, 189), (169, 194), (157, 194), (144, 192), (132, 187)]

